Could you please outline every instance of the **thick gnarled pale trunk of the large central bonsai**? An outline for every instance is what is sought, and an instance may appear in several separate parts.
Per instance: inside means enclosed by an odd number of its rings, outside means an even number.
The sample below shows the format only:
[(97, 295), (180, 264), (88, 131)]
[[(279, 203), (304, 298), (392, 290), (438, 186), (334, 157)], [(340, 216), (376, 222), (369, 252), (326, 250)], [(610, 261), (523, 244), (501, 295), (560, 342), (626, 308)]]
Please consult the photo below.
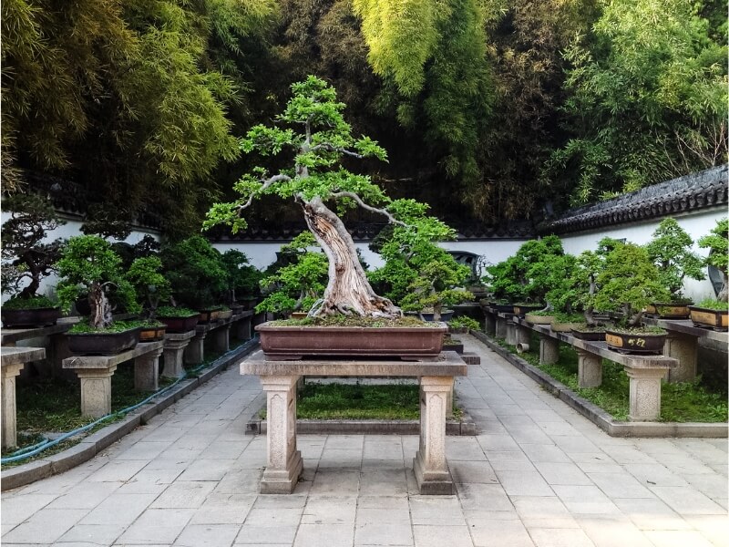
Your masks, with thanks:
[(375, 294), (359, 263), (352, 236), (339, 217), (320, 198), (305, 201), (303, 213), (309, 230), (329, 259), (329, 283), (323, 303), (313, 310), (313, 315), (401, 316), (400, 308)]

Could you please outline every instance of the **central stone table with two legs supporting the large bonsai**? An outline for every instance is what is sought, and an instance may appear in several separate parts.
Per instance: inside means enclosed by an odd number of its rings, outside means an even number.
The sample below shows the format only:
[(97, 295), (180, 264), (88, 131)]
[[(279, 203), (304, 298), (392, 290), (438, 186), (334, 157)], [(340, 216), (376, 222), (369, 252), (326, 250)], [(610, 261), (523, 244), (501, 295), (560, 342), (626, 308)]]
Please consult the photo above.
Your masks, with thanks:
[(436, 361), (268, 361), (259, 354), (241, 363), (241, 374), (261, 377), (266, 392), (268, 457), (262, 493), (293, 492), (303, 471), (296, 449), (296, 384), (303, 376), (419, 377), (420, 447), (413, 460), (417, 486), (421, 494), (453, 493), (446, 460), (447, 401), (454, 377), (467, 375), (467, 365), (456, 352), (443, 352)]

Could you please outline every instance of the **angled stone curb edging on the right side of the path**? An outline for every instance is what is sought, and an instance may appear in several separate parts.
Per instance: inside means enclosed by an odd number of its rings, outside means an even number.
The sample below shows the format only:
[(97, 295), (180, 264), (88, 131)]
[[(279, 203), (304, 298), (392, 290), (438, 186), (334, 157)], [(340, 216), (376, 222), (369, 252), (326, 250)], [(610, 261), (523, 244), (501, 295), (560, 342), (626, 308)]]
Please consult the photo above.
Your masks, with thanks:
[(616, 421), (602, 408), (580, 397), (564, 384), (527, 361), (515, 356), (507, 349), (498, 346), (488, 335), (471, 331), (480, 342), (504, 357), (511, 365), (539, 383), (553, 396), (574, 408), (582, 416), (601, 428), (611, 437), (703, 437), (724, 439), (727, 437), (727, 424), (702, 422), (621, 422)]

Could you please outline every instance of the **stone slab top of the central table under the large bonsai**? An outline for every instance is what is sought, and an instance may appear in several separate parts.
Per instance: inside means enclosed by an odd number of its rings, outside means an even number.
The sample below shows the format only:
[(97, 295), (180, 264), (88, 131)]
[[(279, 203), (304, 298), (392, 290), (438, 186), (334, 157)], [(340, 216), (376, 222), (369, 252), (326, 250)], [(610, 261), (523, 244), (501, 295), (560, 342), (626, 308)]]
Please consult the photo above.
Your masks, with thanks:
[(456, 377), (467, 376), (468, 366), (455, 351), (444, 351), (436, 361), (380, 359), (312, 359), (269, 361), (260, 353), (241, 363), (241, 374), (258, 376)]

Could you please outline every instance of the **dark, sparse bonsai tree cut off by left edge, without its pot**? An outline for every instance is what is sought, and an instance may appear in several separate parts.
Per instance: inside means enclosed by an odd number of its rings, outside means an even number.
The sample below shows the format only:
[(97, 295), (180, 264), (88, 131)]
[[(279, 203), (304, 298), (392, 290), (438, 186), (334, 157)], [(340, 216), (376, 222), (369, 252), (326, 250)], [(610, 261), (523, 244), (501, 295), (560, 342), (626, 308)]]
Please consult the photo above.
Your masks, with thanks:
[(47, 232), (65, 222), (58, 219), (53, 205), (36, 194), (15, 194), (3, 200), (10, 218), (3, 223), (3, 293), (15, 294), (16, 305), (50, 307), (46, 297), (37, 295), (40, 282), (54, 273), (61, 256), (63, 240), (45, 243)]

